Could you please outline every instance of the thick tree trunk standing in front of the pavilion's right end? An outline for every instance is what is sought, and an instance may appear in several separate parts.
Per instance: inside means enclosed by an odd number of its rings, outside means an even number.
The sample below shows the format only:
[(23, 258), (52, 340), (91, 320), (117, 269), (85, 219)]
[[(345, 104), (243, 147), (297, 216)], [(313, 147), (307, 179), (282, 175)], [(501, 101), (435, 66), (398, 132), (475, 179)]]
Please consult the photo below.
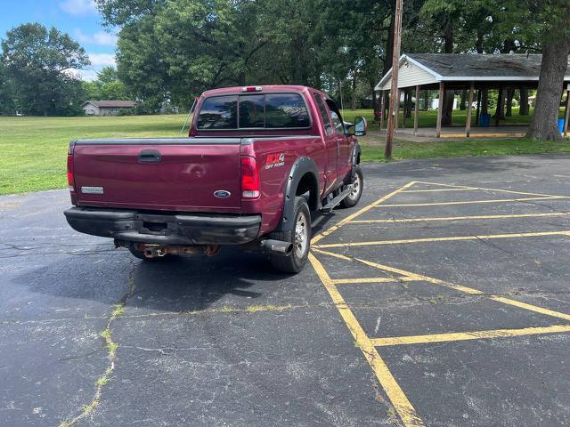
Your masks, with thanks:
[(560, 140), (558, 110), (568, 66), (570, 36), (550, 37), (542, 43), (541, 77), (536, 105), (526, 136), (538, 140)]

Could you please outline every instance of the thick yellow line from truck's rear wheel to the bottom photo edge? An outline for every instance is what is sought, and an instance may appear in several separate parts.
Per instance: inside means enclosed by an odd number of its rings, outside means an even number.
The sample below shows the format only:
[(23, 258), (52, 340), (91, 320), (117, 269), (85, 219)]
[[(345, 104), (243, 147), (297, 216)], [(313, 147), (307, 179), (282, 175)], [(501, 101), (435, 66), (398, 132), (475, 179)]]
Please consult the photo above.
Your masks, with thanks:
[(366, 335), (358, 320), (354, 317), (354, 313), (346, 305), (345, 299), (338, 292), (337, 286), (332, 283), (326, 270), (322, 267), (322, 263), (317, 260), (313, 254), (309, 254), (309, 261), (313, 264), (322, 285), (327, 289), (330, 298), (335, 303), (338, 312), (345, 320), (348, 330), (354, 337), (356, 345), (362, 350), (362, 354), (370, 364), (374, 375), (384, 391), (386, 391), (388, 399), (392, 402), (396, 412), (400, 415), (405, 427), (421, 427), (425, 424), (419, 418), (415, 408), (411, 405), (410, 400), (406, 397), (400, 384), (395, 381), (394, 375), (388, 369), (384, 360), (380, 357), (378, 350), (374, 347), (371, 339)]

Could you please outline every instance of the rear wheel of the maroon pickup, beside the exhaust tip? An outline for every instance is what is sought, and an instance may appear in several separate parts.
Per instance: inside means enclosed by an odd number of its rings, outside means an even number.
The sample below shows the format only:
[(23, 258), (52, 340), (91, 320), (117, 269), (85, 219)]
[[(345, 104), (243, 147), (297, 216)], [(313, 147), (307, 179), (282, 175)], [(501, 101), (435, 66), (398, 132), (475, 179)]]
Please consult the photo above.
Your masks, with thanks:
[(270, 237), (293, 244), (293, 250), (288, 256), (269, 255), (273, 268), (286, 273), (298, 273), (303, 270), (311, 247), (311, 212), (305, 197), (295, 197), (293, 229), (274, 231)]

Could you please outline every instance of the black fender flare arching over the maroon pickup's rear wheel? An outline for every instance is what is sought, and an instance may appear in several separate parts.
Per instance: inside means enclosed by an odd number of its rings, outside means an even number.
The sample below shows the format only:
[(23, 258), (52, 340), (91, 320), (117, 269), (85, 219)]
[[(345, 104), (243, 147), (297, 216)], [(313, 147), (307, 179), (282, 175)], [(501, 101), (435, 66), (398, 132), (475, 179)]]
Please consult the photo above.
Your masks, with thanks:
[(317, 192), (317, 194), (314, 195), (314, 197), (316, 197), (316, 206), (309, 207), (311, 210), (314, 210), (315, 208), (318, 210), (320, 207), (321, 191), (319, 189), (319, 172), (317, 166), (310, 157), (297, 157), (297, 160), (295, 160), (291, 166), (289, 175), (286, 177), (287, 182), (285, 183), (285, 189), (283, 191), (283, 213), (281, 214), (281, 220), (277, 226), (278, 231), (288, 231), (293, 229), (295, 193), (297, 191), (299, 181), (301, 181), (301, 178), (303, 178), (306, 173), (310, 173), (314, 176)]

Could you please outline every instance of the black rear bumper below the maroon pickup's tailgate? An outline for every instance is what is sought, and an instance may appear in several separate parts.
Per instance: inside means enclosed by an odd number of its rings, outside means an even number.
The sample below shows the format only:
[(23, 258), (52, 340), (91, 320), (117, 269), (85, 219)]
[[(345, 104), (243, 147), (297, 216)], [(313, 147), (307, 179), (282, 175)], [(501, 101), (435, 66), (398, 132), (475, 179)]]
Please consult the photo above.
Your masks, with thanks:
[(257, 238), (261, 215), (144, 214), (72, 207), (64, 212), (81, 233), (159, 245), (241, 245)]

